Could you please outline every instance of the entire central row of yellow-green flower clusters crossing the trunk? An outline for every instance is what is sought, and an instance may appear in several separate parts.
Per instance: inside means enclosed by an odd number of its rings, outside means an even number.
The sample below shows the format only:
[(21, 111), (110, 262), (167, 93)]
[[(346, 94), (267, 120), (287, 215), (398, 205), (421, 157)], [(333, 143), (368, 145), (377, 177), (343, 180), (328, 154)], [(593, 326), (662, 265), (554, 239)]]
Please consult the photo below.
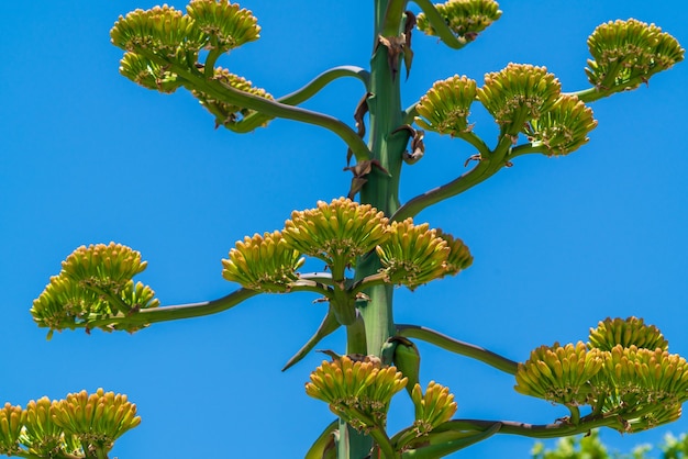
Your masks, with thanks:
[[(379, 255), (385, 281), (411, 289), (456, 275), (473, 258), (464, 243), (411, 219), (392, 222), (368, 204), (340, 198), (315, 209), (296, 211), (281, 232), (246, 237), (222, 260), (226, 280), (264, 292), (287, 292), (298, 280), (300, 255), (319, 258), (343, 276), (357, 257)], [(343, 279), (335, 279), (341, 281)]]

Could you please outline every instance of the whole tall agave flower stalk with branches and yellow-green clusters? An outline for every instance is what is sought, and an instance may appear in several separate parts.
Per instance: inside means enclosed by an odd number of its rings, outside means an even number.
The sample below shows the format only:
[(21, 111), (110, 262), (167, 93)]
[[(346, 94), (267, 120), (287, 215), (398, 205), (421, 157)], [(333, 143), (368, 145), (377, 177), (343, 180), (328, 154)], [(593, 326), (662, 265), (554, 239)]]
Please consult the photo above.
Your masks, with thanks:
[[(599, 426), (636, 432), (676, 419), (688, 399), (688, 363), (668, 354), (663, 335), (642, 320), (602, 321), (587, 344), (541, 346), (517, 363), (440, 332), (396, 324), (392, 296), (396, 286), (413, 290), (454, 276), (473, 261), (459, 238), (413, 222), (422, 210), (482, 182), (521, 155), (563, 156), (578, 149), (597, 125), (587, 102), (646, 82), (680, 61), (684, 49), (654, 24), (610, 22), (588, 41), (590, 89), (562, 93), (558, 79), (545, 67), (512, 63), (487, 72), (481, 86), (459, 74), (440, 80), (403, 110), (400, 68), (406, 67), (408, 78), (413, 34), (423, 32), (460, 48), (502, 14), (493, 0), (417, 0), (418, 14), (407, 10), (409, 3), (374, 0), (369, 71), (335, 67), (282, 97), (233, 74), (231, 64), (218, 66), (222, 55), (259, 38), (257, 19), (238, 4), (190, 0), (186, 10), (164, 5), (120, 16), (111, 38), (124, 51), (124, 77), (163, 93), (188, 90), (214, 116), (217, 127), (236, 133), (276, 117), (324, 127), (344, 142), (345, 170), (354, 179), (348, 198), (295, 211), (284, 228), (238, 240), (222, 260), (222, 276), (238, 287), (221, 299), (158, 307), (153, 290), (133, 280), (146, 267), (141, 255), (101, 244), (80, 247), (65, 260), (34, 301), (34, 320), (49, 333), (79, 327), (135, 332), (225, 311), (258, 294), (315, 293), (315, 303), (326, 305), (324, 317), (285, 369), (340, 327), (345, 328), (346, 349), (344, 356), (325, 351), (333, 360), (318, 367), (306, 384), (307, 394), (324, 401), (339, 417), (315, 440), (309, 459), (435, 459), (498, 433), (546, 438)], [(345, 77), (365, 86), (363, 99), (356, 98), (355, 130), (299, 107)], [(468, 120), (476, 102), (497, 122), (493, 144), (480, 138)], [(402, 203), (401, 168), (425, 153), (425, 133), (413, 124), (467, 143), (471, 155), (465, 165), (473, 167)], [(352, 158), (354, 165), (348, 164)], [(299, 272), (304, 257), (323, 262), (324, 272)], [(432, 381), (422, 390), (420, 351), (409, 338), (513, 374), (517, 391), (563, 404), (570, 415), (545, 425), (452, 418), (457, 411), (454, 395)], [(389, 405), (404, 387), (415, 416), (390, 436)], [(582, 405), (591, 412), (581, 415)], [(26, 410), (5, 405), (0, 421), (2, 454), (100, 459), (141, 419), (125, 396), (98, 390), (59, 402), (40, 399)]]

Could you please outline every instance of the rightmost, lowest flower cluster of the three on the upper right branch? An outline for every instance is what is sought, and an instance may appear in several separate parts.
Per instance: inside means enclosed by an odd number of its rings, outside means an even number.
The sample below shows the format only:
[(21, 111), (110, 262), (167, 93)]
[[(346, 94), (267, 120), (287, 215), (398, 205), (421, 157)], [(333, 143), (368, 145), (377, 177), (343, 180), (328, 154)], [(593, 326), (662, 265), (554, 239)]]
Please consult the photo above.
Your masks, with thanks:
[(533, 146), (544, 146), (546, 155), (567, 155), (588, 142), (597, 126), (592, 110), (575, 96), (561, 96), (539, 119), (528, 123), (525, 132)]

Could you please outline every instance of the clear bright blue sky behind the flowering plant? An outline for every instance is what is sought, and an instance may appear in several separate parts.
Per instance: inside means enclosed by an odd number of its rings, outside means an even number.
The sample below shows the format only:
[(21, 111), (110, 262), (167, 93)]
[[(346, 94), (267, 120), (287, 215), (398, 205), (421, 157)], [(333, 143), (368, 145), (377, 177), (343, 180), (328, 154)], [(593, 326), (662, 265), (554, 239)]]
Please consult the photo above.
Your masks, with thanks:
[[(369, 3), (247, 0), (242, 5), (258, 18), (262, 38), (221, 64), (275, 96), (332, 66), (367, 67)], [(163, 304), (223, 296), (236, 286), (222, 279), (220, 260), (237, 239), (281, 228), (292, 210), (347, 192), (345, 147), (332, 134), (288, 121), (246, 135), (215, 131), (188, 93), (162, 96), (121, 77), (109, 30), (119, 14), (154, 4), (10, 2), (0, 18), (0, 401), (24, 405), (99, 387), (126, 393), (143, 423), (113, 457), (302, 457), (332, 419), (303, 393), (322, 356), (279, 371), (324, 314), (308, 294), (263, 295), (133, 336), (67, 332), (49, 343), (29, 314), (73, 249), (110, 240), (142, 253), (148, 269), (140, 280)], [(688, 44), (680, 2), (500, 7), (502, 19), (460, 52), (414, 35), (406, 104), (437, 79), (458, 74), (481, 83), (510, 61), (544, 65), (565, 91), (584, 89), (587, 36), (609, 20), (654, 22)], [(607, 316), (637, 315), (663, 331), (670, 351), (688, 356), (687, 82), (680, 64), (648, 87), (598, 101), (599, 126), (578, 152), (520, 157), (421, 213), (418, 222), (463, 238), (475, 262), (413, 293), (399, 289), (397, 322), (523, 361), (542, 344), (586, 340)], [(340, 80), (306, 107), (352, 122), (362, 90)], [(476, 131), (493, 144), (493, 121), (474, 107)], [(429, 135), (425, 157), (403, 171), (402, 200), (460, 175), (473, 153)], [(341, 350), (343, 338), (321, 347)], [(423, 382), (448, 385), (459, 417), (547, 423), (566, 414), (517, 394), (509, 376), (420, 347)], [(412, 422), (411, 405), (398, 399), (391, 430)], [(688, 421), (603, 439), (629, 450), (684, 430)], [(526, 458), (531, 446), (497, 436), (455, 457)]]

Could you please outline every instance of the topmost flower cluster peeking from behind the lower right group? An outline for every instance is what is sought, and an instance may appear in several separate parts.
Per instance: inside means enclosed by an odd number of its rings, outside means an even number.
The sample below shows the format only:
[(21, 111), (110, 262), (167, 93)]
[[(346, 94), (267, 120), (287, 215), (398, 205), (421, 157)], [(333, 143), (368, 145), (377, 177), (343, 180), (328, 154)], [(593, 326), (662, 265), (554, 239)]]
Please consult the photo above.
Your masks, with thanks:
[(588, 337), (588, 348), (598, 348), (600, 350), (611, 350), (617, 345), (621, 347), (635, 346), (655, 350), (657, 348), (667, 350), (669, 343), (664, 339), (664, 335), (654, 325), (645, 325), (642, 318), (629, 317), (610, 318), (600, 321), (597, 328), (590, 328)]

